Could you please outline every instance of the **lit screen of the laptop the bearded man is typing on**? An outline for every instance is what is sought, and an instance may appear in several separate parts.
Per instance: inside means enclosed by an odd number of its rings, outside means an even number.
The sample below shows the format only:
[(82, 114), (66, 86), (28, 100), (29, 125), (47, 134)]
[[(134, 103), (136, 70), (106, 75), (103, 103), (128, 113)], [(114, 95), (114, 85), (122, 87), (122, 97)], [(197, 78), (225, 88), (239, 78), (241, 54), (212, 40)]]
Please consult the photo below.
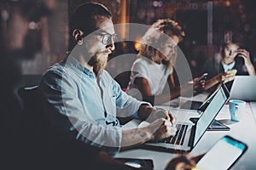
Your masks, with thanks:
[(224, 84), (217, 89), (212, 101), (207, 106), (207, 109), (203, 112), (195, 127), (195, 139), (194, 145), (201, 139), (201, 136), (207, 130), (207, 127), (212, 123), (215, 116), (218, 115), (218, 111), (221, 110), (223, 105), (229, 99), (230, 95)]

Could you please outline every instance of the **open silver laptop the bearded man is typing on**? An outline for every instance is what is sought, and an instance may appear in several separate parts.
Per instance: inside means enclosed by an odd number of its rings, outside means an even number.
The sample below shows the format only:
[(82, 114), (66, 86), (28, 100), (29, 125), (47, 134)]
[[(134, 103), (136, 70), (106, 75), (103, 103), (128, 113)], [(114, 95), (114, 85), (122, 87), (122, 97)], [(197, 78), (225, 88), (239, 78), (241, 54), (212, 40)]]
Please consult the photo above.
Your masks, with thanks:
[(179, 153), (189, 152), (207, 131), (207, 128), (229, 98), (230, 93), (226, 86), (222, 84), (214, 93), (211, 102), (197, 122), (177, 122), (177, 133), (174, 137), (163, 139), (156, 143), (145, 143), (143, 148)]

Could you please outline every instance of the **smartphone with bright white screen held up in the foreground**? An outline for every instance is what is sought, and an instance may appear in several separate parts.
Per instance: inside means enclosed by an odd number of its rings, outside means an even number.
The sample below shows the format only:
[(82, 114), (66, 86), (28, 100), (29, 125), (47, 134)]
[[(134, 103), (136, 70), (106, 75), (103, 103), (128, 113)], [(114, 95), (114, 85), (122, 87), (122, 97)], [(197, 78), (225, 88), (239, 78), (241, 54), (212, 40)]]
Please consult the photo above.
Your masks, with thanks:
[(226, 135), (213, 144), (206, 155), (197, 162), (195, 169), (229, 169), (246, 150), (247, 144)]

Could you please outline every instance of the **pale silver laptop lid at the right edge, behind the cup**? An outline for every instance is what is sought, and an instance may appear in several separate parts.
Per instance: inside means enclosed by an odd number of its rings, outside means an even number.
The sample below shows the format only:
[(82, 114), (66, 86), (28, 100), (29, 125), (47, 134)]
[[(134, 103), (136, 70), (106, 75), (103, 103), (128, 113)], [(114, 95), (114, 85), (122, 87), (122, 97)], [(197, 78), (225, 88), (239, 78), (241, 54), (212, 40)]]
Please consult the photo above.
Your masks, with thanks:
[(256, 101), (256, 76), (236, 76), (231, 90), (230, 99)]

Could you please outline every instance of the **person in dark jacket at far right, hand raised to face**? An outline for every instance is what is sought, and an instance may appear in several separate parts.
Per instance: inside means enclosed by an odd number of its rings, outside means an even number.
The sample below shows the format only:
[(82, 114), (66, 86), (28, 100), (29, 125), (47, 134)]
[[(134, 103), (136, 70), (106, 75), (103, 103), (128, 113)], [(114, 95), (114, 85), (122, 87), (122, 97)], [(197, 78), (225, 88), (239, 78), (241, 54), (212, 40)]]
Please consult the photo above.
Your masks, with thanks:
[(236, 75), (256, 75), (249, 52), (236, 42), (224, 43), (219, 53), (207, 61), (204, 72), (208, 73), (205, 90), (215, 89), (221, 82), (230, 88)]

